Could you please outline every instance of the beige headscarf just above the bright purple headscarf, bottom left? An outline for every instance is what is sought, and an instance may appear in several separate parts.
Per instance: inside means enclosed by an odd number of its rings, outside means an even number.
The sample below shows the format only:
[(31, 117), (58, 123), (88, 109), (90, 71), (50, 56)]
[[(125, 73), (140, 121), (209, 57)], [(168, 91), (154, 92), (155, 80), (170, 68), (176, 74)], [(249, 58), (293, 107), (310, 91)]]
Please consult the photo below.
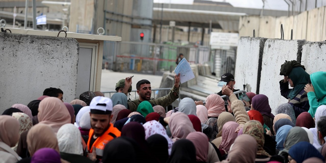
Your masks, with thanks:
[(34, 153), (41, 148), (52, 148), (60, 153), (57, 137), (49, 125), (39, 123), (33, 126), (27, 133), (26, 141), (27, 149), (31, 156), (33, 156)]

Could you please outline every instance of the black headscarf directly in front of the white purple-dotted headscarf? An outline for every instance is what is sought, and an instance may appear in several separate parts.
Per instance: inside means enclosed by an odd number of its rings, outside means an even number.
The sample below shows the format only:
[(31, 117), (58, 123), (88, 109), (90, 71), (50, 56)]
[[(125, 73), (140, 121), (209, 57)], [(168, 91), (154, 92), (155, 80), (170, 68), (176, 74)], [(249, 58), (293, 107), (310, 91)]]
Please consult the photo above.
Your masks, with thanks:
[(146, 140), (149, 149), (158, 163), (165, 163), (169, 158), (168, 141), (160, 134), (154, 134)]

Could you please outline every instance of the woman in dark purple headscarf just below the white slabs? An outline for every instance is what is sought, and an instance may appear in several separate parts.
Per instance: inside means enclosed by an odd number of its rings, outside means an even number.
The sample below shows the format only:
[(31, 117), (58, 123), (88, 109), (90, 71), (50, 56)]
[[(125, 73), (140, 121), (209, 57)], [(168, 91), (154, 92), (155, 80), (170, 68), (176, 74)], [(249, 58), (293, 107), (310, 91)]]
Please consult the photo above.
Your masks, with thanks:
[[(264, 118), (264, 124), (272, 129), (274, 115), (269, 106), (268, 97), (262, 94), (256, 95), (252, 98), (251, 109), (259, 111)], [(273, 131), (271, 131), (274, 133)]]

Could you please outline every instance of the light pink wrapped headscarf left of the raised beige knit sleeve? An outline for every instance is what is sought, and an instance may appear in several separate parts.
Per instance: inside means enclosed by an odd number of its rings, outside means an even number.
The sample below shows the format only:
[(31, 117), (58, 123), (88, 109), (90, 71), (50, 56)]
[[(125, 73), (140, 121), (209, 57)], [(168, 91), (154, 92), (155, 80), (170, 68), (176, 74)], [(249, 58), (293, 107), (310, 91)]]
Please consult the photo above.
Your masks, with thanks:
[(217, 94), (211, 94), (206, 97), (205, 107), (208, 110), (209, 117), (218, 117), (221, 112), (225, 111), (224, 100)]

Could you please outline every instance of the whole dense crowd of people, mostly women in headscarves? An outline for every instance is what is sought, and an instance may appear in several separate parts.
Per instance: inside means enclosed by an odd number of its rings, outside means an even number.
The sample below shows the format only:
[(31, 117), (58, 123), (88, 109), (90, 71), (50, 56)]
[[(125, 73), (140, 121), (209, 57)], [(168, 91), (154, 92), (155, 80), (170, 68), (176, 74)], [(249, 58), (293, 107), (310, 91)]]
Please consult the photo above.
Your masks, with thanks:
[(128, 99), (132, 78), (117, 82), (111, 98), (87, 91), (70, 103), (59, 88), (47, 88), (0, 115), (0, 163), (325, 162), (326, 72), (309, 75), (286, 61), (280, 75), (288, 103), (273, 108), (275, 115), (266, 95), (247, 92), (247, 101), (234, 94), (230, 73), (218, 94), (205, 102), (185, 97), (170, 111), (180, 74), (156, 99), (148, 80), (137, 82), (138, 99)]

